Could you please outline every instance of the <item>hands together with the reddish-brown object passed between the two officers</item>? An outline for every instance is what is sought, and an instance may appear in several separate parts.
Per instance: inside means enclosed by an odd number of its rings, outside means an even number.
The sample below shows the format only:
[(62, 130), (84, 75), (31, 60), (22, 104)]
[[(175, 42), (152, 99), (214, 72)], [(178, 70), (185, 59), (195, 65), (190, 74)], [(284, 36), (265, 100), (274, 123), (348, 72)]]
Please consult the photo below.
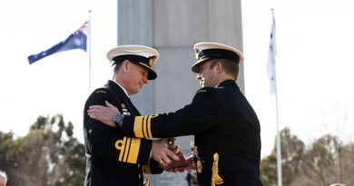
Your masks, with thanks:
[[(175, 144), (175, 138), (161, 139), (159, 141), (152, 142), (152, 157), (157, 162), (159, 162), (160, 167), (162, 167), (165, 171), (186, 171), (192, 169), (192, 156), (185, 158), (183, 153), (181, 152), (180, 146)], [(164, 144), (163, 144), (163, 143)], [(156, 151), (154, 151), (154, 147), (156, 147), (156, 143), (160, 143), (159, 145), (167, 146), (169, 152), (160, 151), (160, 156), (156, 155)], [(166, 148), (164, 148), (166, 149)], [(162, 149), (161, 149), (162, 150)], [(168, 151), (167, 150), (167, 151)], [(163, 154), (164, 153), (164, 154)], [(154, 155), (155, 154), (155, 155)], [(160, 160), (160, 161), (159, 161)]]

